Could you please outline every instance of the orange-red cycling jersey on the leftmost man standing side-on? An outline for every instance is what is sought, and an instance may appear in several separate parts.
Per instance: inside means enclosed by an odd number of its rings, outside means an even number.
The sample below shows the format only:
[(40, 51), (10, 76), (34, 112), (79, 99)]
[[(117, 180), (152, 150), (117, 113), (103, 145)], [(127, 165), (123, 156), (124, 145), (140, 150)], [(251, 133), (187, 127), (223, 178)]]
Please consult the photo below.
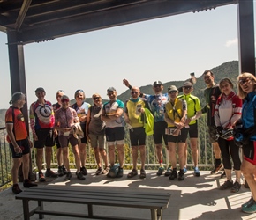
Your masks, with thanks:
[[(12, 117), (12, 111), (13, 116)], [(5, 114), (5, 123), (12, 123), (14, 128), (14, 136), (16, 141), (24, 140), (27, 137), (26, 123), (23, 114), (17, 107), (10, 107)], [(7, 142), (11, 143), (9, 136), (7, 135)]]

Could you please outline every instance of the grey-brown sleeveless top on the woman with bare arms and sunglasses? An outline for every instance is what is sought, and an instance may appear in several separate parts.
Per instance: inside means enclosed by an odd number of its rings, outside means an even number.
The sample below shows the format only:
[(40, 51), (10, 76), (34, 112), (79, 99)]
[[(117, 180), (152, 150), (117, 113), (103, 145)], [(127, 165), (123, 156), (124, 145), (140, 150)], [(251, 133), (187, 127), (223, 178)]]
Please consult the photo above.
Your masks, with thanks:
[(100, 136), (105, 134), (105, 121), (101, 120), (102, 106), (90, 106), (90, 123), (89, 123), (89, 134)]

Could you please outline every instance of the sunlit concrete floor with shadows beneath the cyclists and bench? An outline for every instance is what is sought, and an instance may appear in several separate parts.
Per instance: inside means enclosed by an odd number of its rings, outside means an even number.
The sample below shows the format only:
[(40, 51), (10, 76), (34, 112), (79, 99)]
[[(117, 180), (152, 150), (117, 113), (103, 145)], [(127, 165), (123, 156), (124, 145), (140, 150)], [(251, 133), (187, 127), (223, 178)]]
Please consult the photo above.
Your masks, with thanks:
[[(106, 189), (111, 187), (117, 191), (150, 191), (167, 192), (171, 194), (168, 209), (163, 210), (163, 219), (256, 219), (256, 213), (245, 214), (240, 207), (247, 202), (251, 193), (250, 190), (241, 187), (238, 193), (230, 193), (230, 190), (220, 190), (225, 179), (220, 174), (210, 175), (209, 172), (201, 172), (200, 177), (194, 177), (192, 172), (185, 174), (184, 181), (169, 180), (168, 177), (156, 176), (156, 171), (147, 171), (147, 178), (140, 180), (139, 176), (127, 179), (130, 171), (124, 171), (121, 179), (109, 179), (104, 175), (95, 176), (95, 170), (89, 170), (86, 180), (78, 180), (72, 171), (72, 180), (64, 181), (64, 177), (49, 179), (39, 183), (43, 187), (92, 187)], [(22, 184), (20, 187), (23, 189)], [(31, 208), (36, 202), (30, 202)], [(87, 210), (85, 205), (45, 202), (45, 209), (49, 210), (71, 210), (82, 213)], [(104, 206), (94, 207), (94, 213), (101, 216), (134, 216), (138, 219), (150, 219), (149, 209), (109, 208)], [(0, 193), (0, 219), (13, 220), (23, 219), (22, 202), (15, 200), (11, 188)], [(39, 219), (34, 215), (31, 219)], [(45, 216), (44, 219), (79, 219), (64, 216)]]

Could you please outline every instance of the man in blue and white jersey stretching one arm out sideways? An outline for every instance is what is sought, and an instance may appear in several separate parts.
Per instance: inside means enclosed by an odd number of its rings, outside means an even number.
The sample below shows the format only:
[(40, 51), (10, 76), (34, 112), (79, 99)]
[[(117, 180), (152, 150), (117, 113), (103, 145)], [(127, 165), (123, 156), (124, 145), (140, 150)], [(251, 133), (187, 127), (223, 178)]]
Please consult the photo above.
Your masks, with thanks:
[[(130, 90), (132, 85), (127, 79), (123, 80), (124, 85), (126, 85)], [(150, 111), (154, 115), (154, 144), (156, 148), (156, 156), (159, 161), (159, 168), (156, 174), (158, 176), (162, 175), (164, 172), (164, 167), (162, 165), (162, 138), (164, 140), (165, 146), (167, 145), (167, 136), (165, 135), (165, 129), (167, 128), (167, 123), (164, 121), (164, 105), (168, 101), (168, 93), (163, 93), (163, 85), (161, 81), (155, 81), (153, 84), (154, 95), (143, 94), (140, 92), (139, 97), (147, 99), (147, 103)]]

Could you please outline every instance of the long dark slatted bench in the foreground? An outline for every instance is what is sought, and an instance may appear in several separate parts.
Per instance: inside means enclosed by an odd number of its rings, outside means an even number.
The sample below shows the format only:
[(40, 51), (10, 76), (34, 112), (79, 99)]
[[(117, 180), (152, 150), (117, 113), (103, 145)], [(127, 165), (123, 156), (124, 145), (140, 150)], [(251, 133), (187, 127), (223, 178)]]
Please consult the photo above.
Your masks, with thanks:
[[(73, 216), (92, 219), (134, 219), (128, 216), (115, 216), (116, 207), (150, 209), (151, 219), (162, 219), (162, 209), (167, 209), (169, 205), (170, 194), (162, 193), (146, 193), (146, 192), (122, 192), (117, 190), (95, 190), (78, 189), (74, 187), (31, 187), (20, 194), (16, 195), (16, 199), (23, 202), (24, 219), (30, 219), (30, 216), (39, 214), (39, 218), (43, 219), (44, 215), (53, 216)], [(29, 201), (37, 201), (38, 206), (35, 209), (29, 209)], [(66, 202), (87, 204), (87, 213), (72, 213), (63, 211), (45, 210), (43, 202)], [(110, 206), (113, 209), (113, 216), (95, 216), (93, 205)], [(56, 209), (56, 207), (55, 207)], [(72, 210), (72, 209), (71, 209)], [(76, 210), (73, 209), (75, 212)], [(138, 218), (136, 218), (138, 219)]]

